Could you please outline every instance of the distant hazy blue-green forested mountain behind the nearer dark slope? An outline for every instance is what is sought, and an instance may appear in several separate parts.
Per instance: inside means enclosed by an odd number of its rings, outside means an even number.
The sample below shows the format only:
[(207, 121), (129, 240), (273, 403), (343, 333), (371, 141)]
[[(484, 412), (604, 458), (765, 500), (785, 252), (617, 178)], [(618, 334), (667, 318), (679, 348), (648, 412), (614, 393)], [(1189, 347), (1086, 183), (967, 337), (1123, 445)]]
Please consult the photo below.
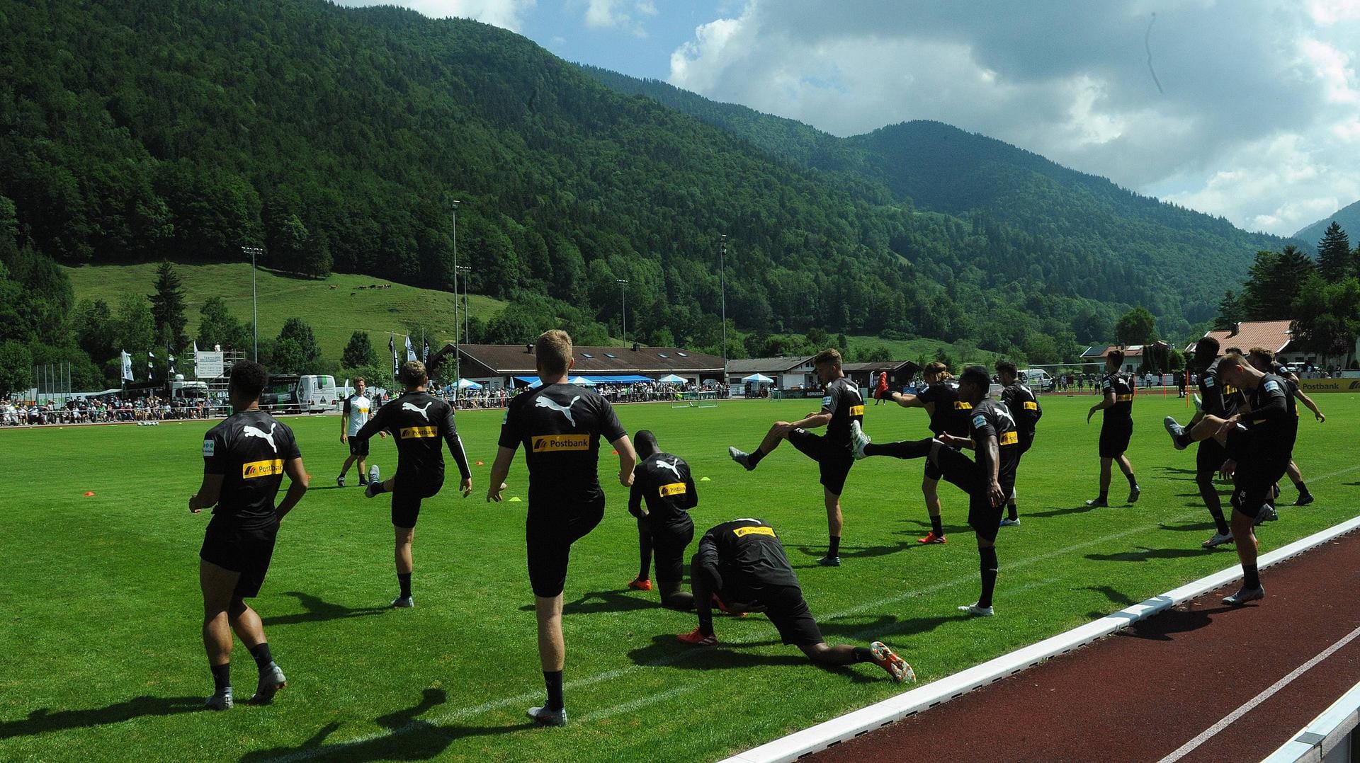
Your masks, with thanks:
[[(964, 218), (1002, 250), (986, 265), (1002, 277), (1064, 283), (1083, 296), (1142, 305), (1168, 332), (1212, 318), (1223, 283), (1238, 283), (1255, 252), (1289, 243), (941, 122), (838, 139), (662, 82), (583, 68), (619, 92), (694, 114), (771, 154), (885, 185), (895, 200), (919, 209)], [(1209, 280), (1205, 272), (1223, 277)]]

